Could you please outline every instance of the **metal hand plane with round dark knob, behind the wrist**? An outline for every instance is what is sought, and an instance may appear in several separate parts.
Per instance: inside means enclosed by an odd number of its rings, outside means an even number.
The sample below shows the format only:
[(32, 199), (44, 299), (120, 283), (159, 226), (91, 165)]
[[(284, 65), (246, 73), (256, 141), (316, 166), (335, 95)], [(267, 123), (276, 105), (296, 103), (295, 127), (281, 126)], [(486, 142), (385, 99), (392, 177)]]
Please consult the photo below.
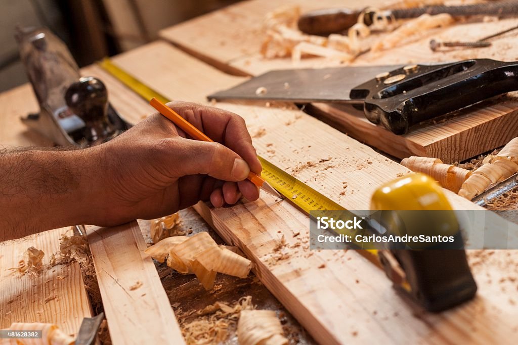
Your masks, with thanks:
[(102, 81), (81, 77), (65, 43), (47, 28), (19, 28), (20, 57), (40, 106), (22, 118), (61, 146), (89, 146), (131, 127), (108, 102)]

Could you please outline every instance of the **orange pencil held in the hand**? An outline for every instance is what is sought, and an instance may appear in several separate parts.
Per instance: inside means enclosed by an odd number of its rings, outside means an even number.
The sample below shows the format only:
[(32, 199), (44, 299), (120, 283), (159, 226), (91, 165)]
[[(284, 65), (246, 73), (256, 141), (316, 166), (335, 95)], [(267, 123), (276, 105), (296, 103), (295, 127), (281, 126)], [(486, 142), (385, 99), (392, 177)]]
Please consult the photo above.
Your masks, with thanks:
[[(189, 121), (178, 115), (178, 113), (171, 108), (167, 107), (164, 103), (153, 97), (149, 104), (157, 111), (159, 111), (162, 115), (167, 117), (172, 123), (180, 127), (185, 133), (189, 134), (191, 138), (202, 141), (210, 141), (213, 142), (212, 139), (207, 137), (202, 131), (194, 127)], [(264, 191), (282, 198), (277, 190), (275, 190), (272, 186), (270, 186), (263, 177), (257, 175), (256, 173), (250, 172), (248, 174), (248, 179), (256, 185), (258, 188), (263, 189)]]

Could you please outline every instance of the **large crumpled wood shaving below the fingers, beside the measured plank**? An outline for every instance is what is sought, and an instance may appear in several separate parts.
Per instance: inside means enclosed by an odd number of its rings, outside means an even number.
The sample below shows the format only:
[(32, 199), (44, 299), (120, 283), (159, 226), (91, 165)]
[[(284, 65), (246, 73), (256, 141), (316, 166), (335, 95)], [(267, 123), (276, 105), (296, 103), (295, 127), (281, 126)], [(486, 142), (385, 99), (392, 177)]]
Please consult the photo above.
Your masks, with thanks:
[(168, 237), (146, 249), (152, 258), (164, 262), (181, 274), (195, 274), (206, 290), (214, 286), (216, 274), (245, 278), (252, 262), (225, 246), (218, 246), (206, 232), (192, 237)]

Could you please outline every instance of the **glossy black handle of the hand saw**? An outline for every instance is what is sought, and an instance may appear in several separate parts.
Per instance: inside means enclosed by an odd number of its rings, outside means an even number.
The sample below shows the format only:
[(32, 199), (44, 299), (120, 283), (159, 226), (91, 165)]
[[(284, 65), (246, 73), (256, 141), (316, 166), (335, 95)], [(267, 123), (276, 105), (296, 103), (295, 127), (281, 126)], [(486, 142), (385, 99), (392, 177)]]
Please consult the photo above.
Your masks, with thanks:
[(444, 65), (409, 65), (356, 86), (369, 121), (395, 134), (422, 121), (518, 90), (518, 62), (470, 59)]

